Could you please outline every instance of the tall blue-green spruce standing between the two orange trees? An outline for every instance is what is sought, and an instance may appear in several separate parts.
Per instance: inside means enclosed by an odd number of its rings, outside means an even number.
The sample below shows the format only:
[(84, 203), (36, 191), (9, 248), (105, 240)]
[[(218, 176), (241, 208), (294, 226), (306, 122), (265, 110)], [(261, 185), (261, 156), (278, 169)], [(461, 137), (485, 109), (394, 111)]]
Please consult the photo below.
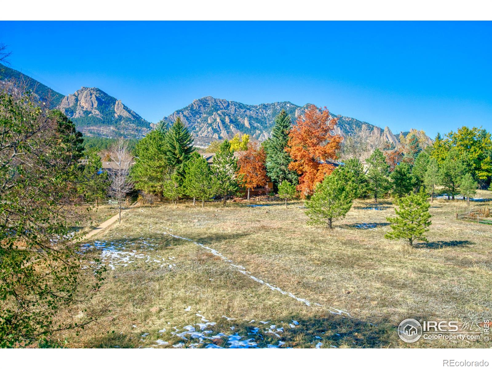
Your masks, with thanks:
[(292, 161), (289, 153), (285, 152), (285, 147), (289, 141), (289, 132), (292, 127), (290, 116), (282, 110), (275, 118), (275, 125), (272, 131), (272, 138), (265, 144), (267, 159), (265, 166), (268, 177), (279, 184), (285, 180), (292, 184), (297, 184), (299, 175), (289, 169)]

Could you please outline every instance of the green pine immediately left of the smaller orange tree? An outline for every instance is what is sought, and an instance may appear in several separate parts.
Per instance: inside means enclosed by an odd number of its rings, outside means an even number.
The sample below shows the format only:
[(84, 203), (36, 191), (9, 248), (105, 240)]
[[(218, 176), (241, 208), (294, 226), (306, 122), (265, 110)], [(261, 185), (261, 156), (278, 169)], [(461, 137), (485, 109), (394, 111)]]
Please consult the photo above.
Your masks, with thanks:
[(222, 204), (224, 206), (226, 197), (239, 191), (238, 163), (230, 149), (229, 141), (222, 142), (212, 164), (212, 172), (215, 177), (215, 193), (222, 196)]

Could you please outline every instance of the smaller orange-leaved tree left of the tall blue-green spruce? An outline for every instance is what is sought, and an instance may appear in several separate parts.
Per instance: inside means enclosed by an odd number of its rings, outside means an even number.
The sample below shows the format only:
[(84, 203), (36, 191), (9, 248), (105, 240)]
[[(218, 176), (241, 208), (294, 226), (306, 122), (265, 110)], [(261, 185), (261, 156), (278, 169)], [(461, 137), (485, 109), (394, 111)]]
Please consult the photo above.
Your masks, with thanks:
[(266, 157), (265, 150), (263, 148), (258, 149), (257, 145), (253, 143), (250, 143), (247, 150), (239, 155), (239, 178), (241, 178), (241, 184), (247, 188), (248, 199), (251, 188), (267, 184)]

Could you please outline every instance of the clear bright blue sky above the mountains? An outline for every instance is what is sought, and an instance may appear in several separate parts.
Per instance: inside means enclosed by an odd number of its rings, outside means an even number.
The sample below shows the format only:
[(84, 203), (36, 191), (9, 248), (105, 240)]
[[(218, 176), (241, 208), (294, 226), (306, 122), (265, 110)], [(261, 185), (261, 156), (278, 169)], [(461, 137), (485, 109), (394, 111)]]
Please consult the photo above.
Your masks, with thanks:
[(0, 22), (11, 67), (156, 122), (207, 95), (327, 106), (394, 133), (492, 129), (492, 22)]

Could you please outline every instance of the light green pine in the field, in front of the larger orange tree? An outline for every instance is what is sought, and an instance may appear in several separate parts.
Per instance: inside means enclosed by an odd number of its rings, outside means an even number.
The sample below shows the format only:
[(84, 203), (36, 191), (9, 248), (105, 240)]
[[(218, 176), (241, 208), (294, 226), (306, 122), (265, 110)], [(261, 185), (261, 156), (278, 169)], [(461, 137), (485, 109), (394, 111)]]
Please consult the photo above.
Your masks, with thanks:
[(323, 224), (332, 228), (334, 219), (344, 217), (352, 207), (353, 191), (344, 181), (339, 170), (327, 175), (322, 183), (316, 186), (314, 195), (306, 202), (306, 215), (310, 218), (307, 224)]

